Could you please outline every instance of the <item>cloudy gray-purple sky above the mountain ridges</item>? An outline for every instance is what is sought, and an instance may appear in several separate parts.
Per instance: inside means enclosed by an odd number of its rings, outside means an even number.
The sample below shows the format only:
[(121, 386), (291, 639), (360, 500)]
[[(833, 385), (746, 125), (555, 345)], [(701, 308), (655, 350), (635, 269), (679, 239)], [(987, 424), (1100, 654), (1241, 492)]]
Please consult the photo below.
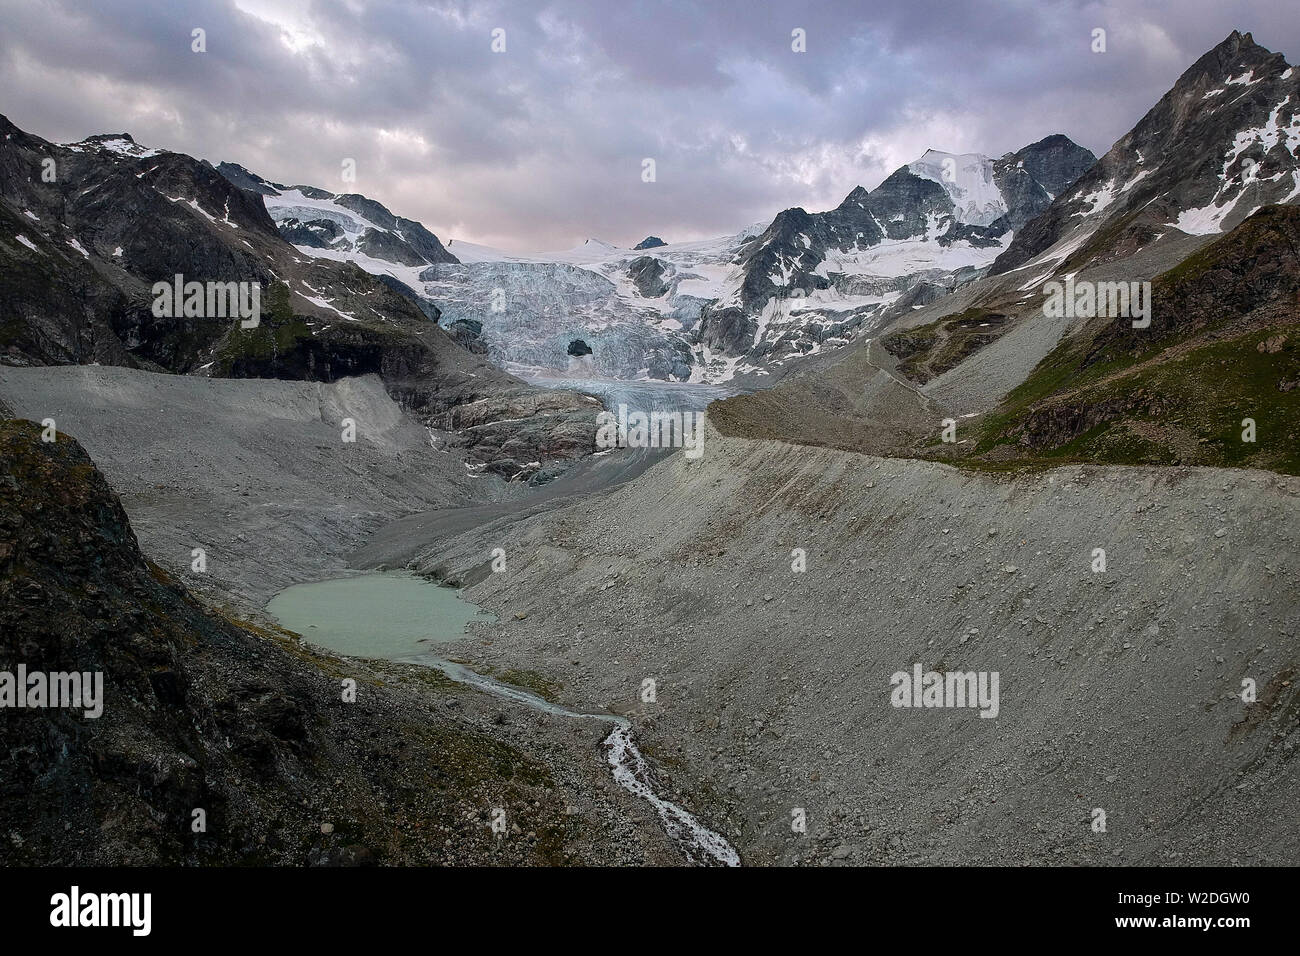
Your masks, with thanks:
[[(443, 241), (632, 245), (824, 209), (927, 147), (996, 156), (1065, 133), (1100, 155), (1234, 27), (1295, 62), (1295, 13), (1290, 0), (0, 0), (0, 112), (56, 142), (127, 131), (363, 193)], [(195, 29), (207, 52), (192, 52)]]

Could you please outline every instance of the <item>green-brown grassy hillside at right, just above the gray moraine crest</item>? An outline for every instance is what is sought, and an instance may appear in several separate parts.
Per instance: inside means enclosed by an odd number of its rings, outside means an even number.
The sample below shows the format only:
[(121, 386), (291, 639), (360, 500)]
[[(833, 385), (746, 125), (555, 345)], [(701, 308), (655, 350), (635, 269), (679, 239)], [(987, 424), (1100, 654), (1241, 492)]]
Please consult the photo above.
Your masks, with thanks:
[(1300, 207), (1269, 206), (1156, 280), (1150, 328), (1101, 319), (1063, 339), (972, 454), (1300, 475), (1297, 302)]

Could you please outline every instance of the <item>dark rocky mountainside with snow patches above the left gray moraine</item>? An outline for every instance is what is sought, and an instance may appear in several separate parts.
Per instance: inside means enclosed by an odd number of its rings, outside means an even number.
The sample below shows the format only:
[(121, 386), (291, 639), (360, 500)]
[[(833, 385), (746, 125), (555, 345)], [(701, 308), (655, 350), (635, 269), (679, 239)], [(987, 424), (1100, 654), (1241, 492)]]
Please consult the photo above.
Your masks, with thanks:
[[(355, 265), (303, 258), (261, 195), (208, 164), (126, 134), (57, 146), (3, 117), (0, 131), (0, 269), (14, 277), (0, 284), (0, 360), (313, 381), (373, 372), (433, 423), (519, 423), (467, 438), (498, 473), (521, 476), (533, 462), (592, 450), (589, 399), (530, 388), (465, 351), (410, 290)], [(43, 177), (47, 160), (53, 182)], [(153, 284), (177, 274), (256, 285), (260, 323), (155, 315)]]

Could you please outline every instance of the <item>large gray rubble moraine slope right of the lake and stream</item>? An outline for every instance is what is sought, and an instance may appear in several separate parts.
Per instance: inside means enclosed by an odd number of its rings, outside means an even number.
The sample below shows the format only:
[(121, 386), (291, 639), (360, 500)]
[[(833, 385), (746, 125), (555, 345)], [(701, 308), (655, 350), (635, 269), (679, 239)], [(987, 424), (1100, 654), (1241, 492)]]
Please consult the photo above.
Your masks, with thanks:
[[(710, 441), (420, 554), (500, 618), (465, 658), (634, 715), (746, 862), (1300, 862), (1296, 479)], [(890, 706), (915, 663), (998, 671), (997, 718)]]

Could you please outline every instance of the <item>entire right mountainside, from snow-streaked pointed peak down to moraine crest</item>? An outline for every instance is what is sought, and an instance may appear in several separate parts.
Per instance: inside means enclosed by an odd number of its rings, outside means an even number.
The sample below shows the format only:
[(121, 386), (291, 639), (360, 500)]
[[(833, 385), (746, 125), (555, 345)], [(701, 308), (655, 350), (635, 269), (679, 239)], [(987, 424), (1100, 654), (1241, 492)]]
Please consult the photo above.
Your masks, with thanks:
[[(1296, 75), (1234, 33), (1017, 233), (991, 274), (767, 397), (715, 403), (712, 419), (728, 434), (957, 459), (974, 451), (997, 467), (1096, 457), (1294, 471)], [(1253, 166), (1225, 165), (1252, 155)], [(1265, 202), (1274, 204), (1247, 217)], [(1223, 215), (1205, 219), (1206, 204)], [(1046, 284), (1066, 277), (1095, 289), (1153, 281), (1150, 326), (1052, 312)], [(1110, 380), (1114, 393), (1093, 388), (1102, 369), (1128, 365)], [(1256, 444), (1240, 438), (1248, 418), (1261, 429)], [(946, 419), (958, 423), (956, 445), (940, 442)]]

